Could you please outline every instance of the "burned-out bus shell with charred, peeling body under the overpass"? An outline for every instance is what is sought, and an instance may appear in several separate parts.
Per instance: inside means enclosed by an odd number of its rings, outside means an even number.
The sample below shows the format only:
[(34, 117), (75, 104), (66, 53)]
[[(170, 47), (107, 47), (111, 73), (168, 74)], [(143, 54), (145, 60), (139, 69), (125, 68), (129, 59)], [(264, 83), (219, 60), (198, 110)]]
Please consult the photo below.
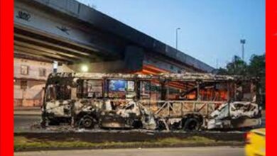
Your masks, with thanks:
[(257, 79), (207, 73), (53, 73), (42, 125), (201, 130), (261, 123)]

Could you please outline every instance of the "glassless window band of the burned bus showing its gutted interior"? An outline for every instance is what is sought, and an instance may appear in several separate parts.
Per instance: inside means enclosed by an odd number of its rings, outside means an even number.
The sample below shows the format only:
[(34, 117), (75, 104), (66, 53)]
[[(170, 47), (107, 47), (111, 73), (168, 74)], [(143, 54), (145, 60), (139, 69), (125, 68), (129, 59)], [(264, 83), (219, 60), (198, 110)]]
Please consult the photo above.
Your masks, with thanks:
[[(156, 110), (158, 101), (251, 101), (256, 103), (256, 79), (214, 80), (52, 77), (45, 88), (45, 101), (112, 99), (146, 101)], [(72, 88), (76, 88), (72, 95)], [(119, 102), (120, 103), (120, 102)], [(120, 104), (115, 105), (120, 105)], [(124, 103), (124, 102), (123, 102)], [(113, 106), (116, 108), (116, 106)]]

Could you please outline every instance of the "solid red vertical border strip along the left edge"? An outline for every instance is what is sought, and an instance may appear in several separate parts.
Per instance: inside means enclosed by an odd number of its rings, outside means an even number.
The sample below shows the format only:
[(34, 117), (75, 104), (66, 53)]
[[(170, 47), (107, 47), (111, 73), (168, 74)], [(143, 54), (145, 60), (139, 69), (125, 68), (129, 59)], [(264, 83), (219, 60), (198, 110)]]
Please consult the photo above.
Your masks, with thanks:
[(13, 155), (13, 0), (0, 1), (0, 155)]

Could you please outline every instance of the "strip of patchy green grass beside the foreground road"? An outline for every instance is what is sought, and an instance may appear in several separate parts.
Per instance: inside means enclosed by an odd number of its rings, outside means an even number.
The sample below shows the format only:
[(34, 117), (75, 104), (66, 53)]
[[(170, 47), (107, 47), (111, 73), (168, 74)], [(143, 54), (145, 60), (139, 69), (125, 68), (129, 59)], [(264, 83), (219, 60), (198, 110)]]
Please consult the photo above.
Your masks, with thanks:
[[(209, 138), (193, 136), (186, 139), (180, 138), (164, 138), (160, 140), (150, 140), (144, 142), (104, 142), (90, 143), (82, 140), (55, 141), (42, 140), (36, 138), (25, 138), (23, 136), (14, 137), (14, 151), (22, 150), (53, 150), (65, 148), (112, 148), (112, 147), (180, 147), (190, 145), (214, 145), (222, 143), (220, 141), (211, 140)], [(227, 143), (227, 142), (224, 142)]]

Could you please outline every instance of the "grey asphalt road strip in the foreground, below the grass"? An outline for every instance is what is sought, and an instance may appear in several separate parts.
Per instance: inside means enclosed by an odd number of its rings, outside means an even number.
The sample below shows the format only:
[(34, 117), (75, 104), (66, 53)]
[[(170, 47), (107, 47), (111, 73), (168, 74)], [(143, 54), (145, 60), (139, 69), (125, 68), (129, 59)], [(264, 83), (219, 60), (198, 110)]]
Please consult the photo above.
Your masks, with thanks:
[(243, 156), (243, 147), (178, 147), (110, 150), (55, 150), (37, 152), (15, 152), (15, 156)]

